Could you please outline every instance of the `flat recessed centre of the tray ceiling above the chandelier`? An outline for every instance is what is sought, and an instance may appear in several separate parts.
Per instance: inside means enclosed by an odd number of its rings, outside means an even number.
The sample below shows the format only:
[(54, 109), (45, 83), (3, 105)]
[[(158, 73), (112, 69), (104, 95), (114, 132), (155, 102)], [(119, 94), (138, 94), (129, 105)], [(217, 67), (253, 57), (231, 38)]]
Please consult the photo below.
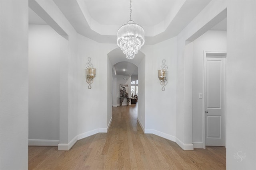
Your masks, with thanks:
[[(132, 20), (151, 27), (165, 20), (174, 0), (132, 0)], [(86, 0), (93, 20), (102, 25), (123, 25), (130, 20), (129, 0)], [(161, 9), (161, 12), (159, 11)]]

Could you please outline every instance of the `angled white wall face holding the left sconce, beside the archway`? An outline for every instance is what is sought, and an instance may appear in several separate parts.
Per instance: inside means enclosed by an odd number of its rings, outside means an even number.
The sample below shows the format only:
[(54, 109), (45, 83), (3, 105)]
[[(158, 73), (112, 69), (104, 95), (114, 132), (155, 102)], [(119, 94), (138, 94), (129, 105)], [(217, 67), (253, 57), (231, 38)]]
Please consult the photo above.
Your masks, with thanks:
[[(109, 82), (112, 81), (112, 66), (107, 54), (115, 48), (115, 45), (97, 43), (80, 34), (77, 35), (77, 40), (79, 58), (77, 138), (82, 139), (99, 132), (107, 132), (112, 117), (112, 85)], [(88, 89), (86, 82), (88, 57), (96, 68), (96, 77), (91, 89)]]

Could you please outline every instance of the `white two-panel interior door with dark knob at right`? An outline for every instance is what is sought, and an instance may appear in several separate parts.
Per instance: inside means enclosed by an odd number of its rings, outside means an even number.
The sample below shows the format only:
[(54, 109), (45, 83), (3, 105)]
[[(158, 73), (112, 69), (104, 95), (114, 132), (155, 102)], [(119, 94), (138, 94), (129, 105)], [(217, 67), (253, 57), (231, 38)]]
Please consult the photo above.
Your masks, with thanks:
[(225, 146), (225, 68), (226, 55), (206, 55), (206, 146)]

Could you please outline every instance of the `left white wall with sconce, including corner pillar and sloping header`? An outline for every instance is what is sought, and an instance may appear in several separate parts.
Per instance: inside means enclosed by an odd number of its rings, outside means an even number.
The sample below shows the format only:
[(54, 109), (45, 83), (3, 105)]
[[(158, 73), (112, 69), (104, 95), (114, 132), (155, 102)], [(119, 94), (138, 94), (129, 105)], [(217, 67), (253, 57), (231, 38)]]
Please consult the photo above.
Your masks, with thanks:
[[(45, 10), (50, 18), (57, 23), (52, 26), (64, 34), (67, 42), (61, 43), (60, 60), (60, 144), (59, 150), (69, 150), (78, 139), (95, 133), (106, 132), (111, 121), (111, 102), (108, 102), (107, 80), (112, 78), (108, 70), (107, 54), (116, 48), (116, 44), (102, 44), (92, 41), (74, 31), (53, 1), (32, 1), (30, 8), (37, 11)], [(40, 11), (40, 14), (44, 12)], [(44, 17), (42, 14), (41, 17)], [(100, 49), (100, 50), (99, 50)], [(96, 77), (92, 89), (86, 83), (86, 63), (88, 57), (96, 68)], [(110, 105), (110, 106), (108, 106)], [(99, 107), (100, 106), (100, 107)]]

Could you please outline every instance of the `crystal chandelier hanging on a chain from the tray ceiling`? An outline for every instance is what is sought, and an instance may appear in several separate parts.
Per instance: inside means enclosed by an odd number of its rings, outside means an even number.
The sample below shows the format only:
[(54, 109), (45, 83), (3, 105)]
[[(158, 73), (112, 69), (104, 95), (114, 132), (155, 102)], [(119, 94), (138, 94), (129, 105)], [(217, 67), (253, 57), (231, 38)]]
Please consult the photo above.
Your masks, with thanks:
[(117, 45), (126, 54), (127, 59), (133, 59), (144, 43), (144, 29), (132, 21), (132, 0), (130, 0), (130, 21), (118, 29)]

